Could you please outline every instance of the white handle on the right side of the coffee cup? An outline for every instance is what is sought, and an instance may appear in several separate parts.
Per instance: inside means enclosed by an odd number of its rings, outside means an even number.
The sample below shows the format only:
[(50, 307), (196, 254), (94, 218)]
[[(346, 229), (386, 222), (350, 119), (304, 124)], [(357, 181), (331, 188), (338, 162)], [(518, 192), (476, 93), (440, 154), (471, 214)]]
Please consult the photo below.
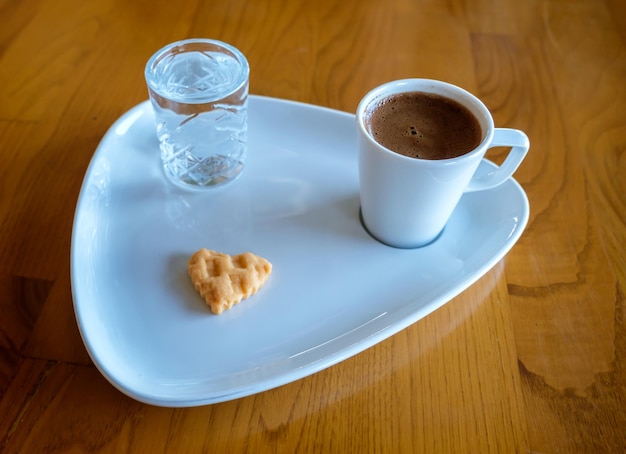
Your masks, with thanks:
[(528, 153), (528, 136), (518, 129), (495, 128), (489, 148), (511, 147), (509, 154), (500, 167), (488, 173), (472, 177), (465, 192), (482, 191), (495, 188), (513, 175)]

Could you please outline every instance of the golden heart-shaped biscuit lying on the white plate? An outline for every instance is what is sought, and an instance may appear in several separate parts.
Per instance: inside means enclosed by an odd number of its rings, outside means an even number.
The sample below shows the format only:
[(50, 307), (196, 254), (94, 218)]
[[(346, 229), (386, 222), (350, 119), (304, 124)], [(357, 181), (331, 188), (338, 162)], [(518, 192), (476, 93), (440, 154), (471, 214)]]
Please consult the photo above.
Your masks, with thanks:
[(255, 294), (269, 278), (272, 264), (251, 252), (231, 256), (200, 249), (189, 259), (187, 270), (211, 311), (221, 314)]

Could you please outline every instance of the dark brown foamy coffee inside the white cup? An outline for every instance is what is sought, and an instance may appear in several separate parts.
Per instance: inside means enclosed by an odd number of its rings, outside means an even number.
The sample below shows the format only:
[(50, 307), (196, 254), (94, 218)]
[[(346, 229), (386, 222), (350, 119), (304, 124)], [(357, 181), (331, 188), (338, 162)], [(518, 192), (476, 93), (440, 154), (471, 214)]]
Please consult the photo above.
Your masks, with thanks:
[(365, 121), (379, 144), (411, 158), (455, 158), (482, 140), (480, 124), (465, 106), (431, 93), (391, 95), (370, 108)]

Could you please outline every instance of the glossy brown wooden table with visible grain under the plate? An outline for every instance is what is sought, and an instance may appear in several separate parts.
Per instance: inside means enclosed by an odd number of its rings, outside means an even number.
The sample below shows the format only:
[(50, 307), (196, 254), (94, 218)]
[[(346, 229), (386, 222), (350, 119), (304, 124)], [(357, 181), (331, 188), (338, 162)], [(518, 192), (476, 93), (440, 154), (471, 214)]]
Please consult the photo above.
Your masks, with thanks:
[[(624, 452), (624, 5), (0, 0), (0, 451)], [(198, 36), (244, 52), (254, 94), (354, 112), (391, 79), (474, 92), (531, 140), (520, 241), (307, 378), (186, 409), (118, 392), (74, 319), (76, 200), (105, 131), (147, 98), (147, 58)]]

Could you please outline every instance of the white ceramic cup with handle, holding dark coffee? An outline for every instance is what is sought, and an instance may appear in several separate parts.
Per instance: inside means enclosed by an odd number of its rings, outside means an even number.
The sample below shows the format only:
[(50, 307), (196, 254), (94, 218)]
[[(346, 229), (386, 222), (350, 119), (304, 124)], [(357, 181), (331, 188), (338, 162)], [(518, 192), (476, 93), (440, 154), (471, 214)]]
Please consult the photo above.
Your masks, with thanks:
[[(368, 131), (368, 115), (382, 99), (405, 92), (432, 93), (459, 102), (478, 120), (482, 141), (469, 153), (441, 160), (407, 157), (380, 145)], [(528, 137), (522, 131), (495, 128), (491, 113), (474, 95), (437, 80), (397, 80), (373, 89), (361, 100), (356, 121), (363, 223), (374, 238), (399, 248), (433, 242), (464, 192), (502, 184), (517, 170), (529, 148)], [(510, 150), (500, 167), (475, 177), (492, 147)]]

